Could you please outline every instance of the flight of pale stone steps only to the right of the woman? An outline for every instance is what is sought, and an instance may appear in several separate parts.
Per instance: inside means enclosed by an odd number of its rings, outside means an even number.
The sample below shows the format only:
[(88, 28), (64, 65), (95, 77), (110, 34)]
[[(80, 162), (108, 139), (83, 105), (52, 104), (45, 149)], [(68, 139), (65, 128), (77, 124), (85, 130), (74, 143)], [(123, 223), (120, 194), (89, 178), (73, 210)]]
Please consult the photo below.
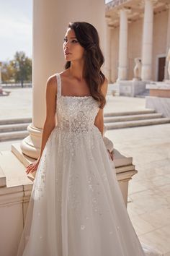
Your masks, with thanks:
[(150, 109), (104, 114), (104, 125), (107, 129), (141, 127), (167, 123), (170, 123), (170, 118), (166, 118), (162, 114), (156, 113), (154, 110)]

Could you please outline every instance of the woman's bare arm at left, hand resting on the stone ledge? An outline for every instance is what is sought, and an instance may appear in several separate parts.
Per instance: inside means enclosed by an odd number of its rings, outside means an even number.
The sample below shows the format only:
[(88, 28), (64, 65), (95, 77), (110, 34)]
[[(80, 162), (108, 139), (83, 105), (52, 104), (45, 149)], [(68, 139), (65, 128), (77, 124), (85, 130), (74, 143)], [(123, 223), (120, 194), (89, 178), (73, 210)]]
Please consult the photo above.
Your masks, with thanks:
[(43, 130), (42, 130), (40, 156), (39, 158), (37, 158), (37, 161), (27, 166), (27, 170), (26, 170), (27, 174), (29, 174), (30, 171), (33, 172), (37, 170), (37, 166), (40, 163), (40, 158), (45, 148), (45, 144), (48, 141), (48, 137), (50, 136), (50, 133), (55, 127), (56, 94), (57, 94), (57, 81), (54, 75), (48, 78), (47, 86), (46, 86), (46, 96), (45, 96), (46, 97), (46, 118), (45, 118)]

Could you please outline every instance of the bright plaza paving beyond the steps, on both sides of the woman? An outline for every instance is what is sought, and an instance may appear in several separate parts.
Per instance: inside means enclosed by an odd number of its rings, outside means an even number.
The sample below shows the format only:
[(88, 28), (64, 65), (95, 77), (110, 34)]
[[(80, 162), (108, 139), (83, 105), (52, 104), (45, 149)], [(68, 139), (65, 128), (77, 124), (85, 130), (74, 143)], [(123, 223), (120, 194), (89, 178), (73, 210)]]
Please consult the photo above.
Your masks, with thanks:
[[(9, 96), (0, 97), (0, 119), (22, 118), (32, 116), (32, 88), (6, 89)], [(132, 100), (133, 99), (133, 100)], [(145, 108), (145, 99), (129, 97), (107, 97), (105, 112), (133, 111)]]

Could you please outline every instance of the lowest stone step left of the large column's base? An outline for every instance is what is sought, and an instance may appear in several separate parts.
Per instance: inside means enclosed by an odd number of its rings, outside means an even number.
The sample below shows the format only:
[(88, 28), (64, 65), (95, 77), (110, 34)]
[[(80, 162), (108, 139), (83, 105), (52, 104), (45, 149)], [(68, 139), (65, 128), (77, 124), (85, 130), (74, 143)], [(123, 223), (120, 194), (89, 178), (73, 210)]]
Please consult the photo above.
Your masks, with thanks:
[(27, 137), (29, 132), (27, 131), (17, 131), (17, 132), (2, 132), (0, 134), (0, 142), (6, 140), (17, 140), (17, 139), (24, 139)]

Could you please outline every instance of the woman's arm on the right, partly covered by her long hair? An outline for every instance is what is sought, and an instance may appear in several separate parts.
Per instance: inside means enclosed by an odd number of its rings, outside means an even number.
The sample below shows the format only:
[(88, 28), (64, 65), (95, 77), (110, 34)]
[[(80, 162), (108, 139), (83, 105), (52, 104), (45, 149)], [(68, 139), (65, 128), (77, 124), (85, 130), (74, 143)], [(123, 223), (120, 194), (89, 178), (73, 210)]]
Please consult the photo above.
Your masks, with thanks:
[[(103, 83), (102, 88), (101, 88), (104, 97), (106, 97), (106, 95), (107, 95), (107, 87), (108, 87), (108, 81), (107, 81), (107, 78), (105, 78), (104, 83)], [(99, 108), (99, 111), (98, 111), (97, 116), (95, 118), (94, 124), (99, 129), (99, 131), (101, 132), (102, 137), (103, 137), (104, 120), (103, 120), (103, 109), (102, 108)]]

